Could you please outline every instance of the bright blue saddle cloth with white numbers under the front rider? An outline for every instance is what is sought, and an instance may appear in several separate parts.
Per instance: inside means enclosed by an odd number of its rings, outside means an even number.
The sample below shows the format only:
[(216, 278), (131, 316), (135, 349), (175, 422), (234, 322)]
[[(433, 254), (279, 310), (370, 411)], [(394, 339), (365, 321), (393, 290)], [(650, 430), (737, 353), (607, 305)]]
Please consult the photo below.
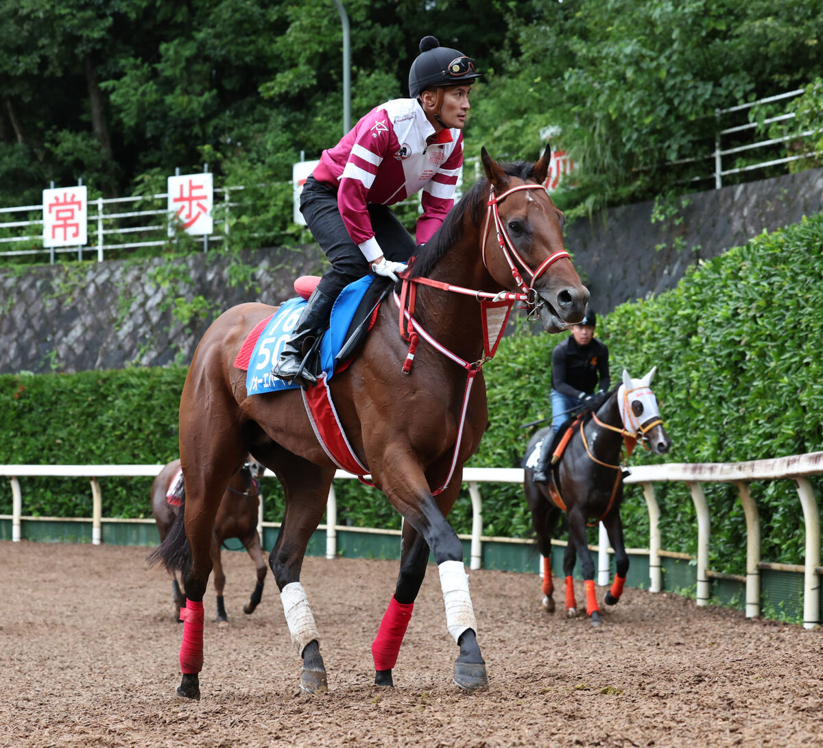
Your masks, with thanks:
[[(350, 283), (340, 292), (332, 306), (329, 328), (320, 342), (320, 369), (326, 372), (328, 379), (332, 379), (335, 356), (346, 342), (346, 333), (351, 320), (372, 281), (374, 281), (374, 276), (367, 275)], [(280, 357), (286, 341), (291, 337), (291, 331), (294, 330), (305, 304), (305, 300), (299, 296), (286, 301), (260, 333), (260, 337), (254, 344), (252, 355), (249, 358), (249, 369), (246, 372), (246, 393), (249, 395), (277, 393), (284, 389), (300, 388), (300, 383), (285, 382), (273, 376), (272, 366)]]

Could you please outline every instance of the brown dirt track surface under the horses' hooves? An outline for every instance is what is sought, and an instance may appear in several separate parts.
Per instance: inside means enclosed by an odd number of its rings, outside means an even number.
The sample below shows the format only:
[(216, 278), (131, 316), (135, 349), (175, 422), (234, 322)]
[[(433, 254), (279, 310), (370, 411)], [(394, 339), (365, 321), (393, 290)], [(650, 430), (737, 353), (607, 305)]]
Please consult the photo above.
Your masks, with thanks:
[[(471, 573), (490, 689), (452, 684), (457, 647), (430, 567), (379, 689), (370, 645), (394, 561), (308, 558), (302, 582), (329, 692), (300, 691), (270, 575), (253, 616), (252, 564), (226, 553), (230, 627), (205, 600), (202, 700), (179, 699), (182, 626), (145, 548), (0, 543), (2, 746), (816, 746), (821, 631), (748, 621), (625, 591), (593, 629), (547, 615), (537, 576)], [(602, 591), (598, 592), (602, 597)], [(557, 597), (557, 595), (556, 595)], [(582, 583), (578, 599), (584, 599)], [(558, 597), (558, 602), (562, 598)]]

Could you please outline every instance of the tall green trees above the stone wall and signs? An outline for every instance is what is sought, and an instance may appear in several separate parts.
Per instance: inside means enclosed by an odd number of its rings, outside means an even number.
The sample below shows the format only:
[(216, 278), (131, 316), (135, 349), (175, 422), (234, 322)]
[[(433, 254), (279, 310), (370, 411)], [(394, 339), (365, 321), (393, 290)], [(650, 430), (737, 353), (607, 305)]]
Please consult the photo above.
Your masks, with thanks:
[[(820, 0), (343, 4), (352, 118), (407, 94), (416, 44), (434, 33), (485, 72), (467, 155), (531, 158), (560, 128), (578, 164), (567, 211), (688, 184), (697, 166), (660, 167), (711, 151), (715, 108), (823, 75)], [(49, 180), (132, 193), (203, 161), (225, 184), (284, 181), (301, 151), (342, 135), (332, 0), (0, 0), (0, 50), (5, 205), (36, 202)]]

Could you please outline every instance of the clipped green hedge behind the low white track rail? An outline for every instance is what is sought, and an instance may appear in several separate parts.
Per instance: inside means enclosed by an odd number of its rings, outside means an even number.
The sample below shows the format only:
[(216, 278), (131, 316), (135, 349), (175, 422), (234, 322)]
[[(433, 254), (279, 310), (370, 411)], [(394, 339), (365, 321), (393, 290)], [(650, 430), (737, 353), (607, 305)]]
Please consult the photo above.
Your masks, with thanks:
[[(611, 376), (635, 378), (653, 365), (653, 389), (672, 437), (668, 462), (732, 462), (823, 449), (823, 216), (802, 221), (693, 267), (676, 289), (623, 304), (601, 318)], [(473, 467), (516, 467), (530, 432), (520, 425), (550, 415), (550, 361), (563, 336), (523, 329), (506, 337), (484, 369), (491, 424)], [(184, 369), (127, 369), (0, 377), (0, 463), (160, 463), (177, 456), (177, 407)], [(642, 449), (633, 464), (663, 462)], [(813, 481), (818, 495), (820, 479)], [(105, 479), (105, 516), (149, 513), (151, 481)], [(91, 516), (87, 481), (22, 481), (24, 513)], [(281, 518), (276, 481), (266, 518)], [(706, 485), (715, 569), (745, 570), (745, 519), (733, 486)], [(383, 495), (337, 481), (339, 521), (399, 527)], [(482, 486), (484, 534), (528, 537), (518, 486)], [(471, 530), (467, 492), (452, 522)], [(803, 557), (802, 511), (789, 481), (752, 484), (764, 560)], [(686, 486), (658, 485), (663, 547), (695, 552), (696, 520)], [(11, 490), (0, 484), (0, 512)], [(639, 487), (623, 507), (629, 546), (648, 546)]]

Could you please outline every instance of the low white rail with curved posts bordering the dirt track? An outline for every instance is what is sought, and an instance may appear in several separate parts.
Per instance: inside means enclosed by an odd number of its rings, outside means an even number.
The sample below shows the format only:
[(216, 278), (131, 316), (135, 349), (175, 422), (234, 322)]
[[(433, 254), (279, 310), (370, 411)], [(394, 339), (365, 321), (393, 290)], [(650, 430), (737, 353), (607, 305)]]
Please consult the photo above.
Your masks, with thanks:
[[(99, 478), (112, 476), (156, 476), (162, 465), (0, 465), (0, 476), (7, 476), (12, 484), (12, 515), (0, 515), (0, 519), (12, 520), (12, 541), (21, 539), (22, 495), (19, 478), (23, 476), (58, 476), (85, 477), (91, 481), (92, 495), (92, 543), (99, 545), (102, 539), (101, 525), (105, 522), (154, 523), (153, 519), (107, 519), (103, 517), (102, 494)], [(746, 616), (760, 615), (760, 569), (781, 569), (802, 572), (804, 574), (803, 625), (814, 628), (820, 623), (820, 574), (821, 569), (821, 532), (820, 515), (811, 484), (807, 476), (823, 473), (823, 452), (795, 455), (772, 460), (755, 460), (751, 462), (729, 463), (670, 463), (663, 465), (641, 465), (633, 467), (626, 483), (639, 483), (643, 486), (644, 498), (649, 510), (649, 584), (651, 592), (660, 592), (663, 588), (661, 558), (664, 555), (681, 554), (663, 551), (660, 547), (660, 509), (654, 495), (653, 483), (659, 481), (682, 481), (688, 484), (691, 498), (697, 513), (697, 595), (699, 606), (709, 601), (709, 578), (722, 577), (709, 570), (709, 508), (701, 483), (734, 483), (746, 514)], [(266, 472), (266, 476), (272, 476)], [(338, 470), (335, 480), (351, 480), (355, 476)], [(760, 521), (757, 507), (749, 492), (751, 481), (793, 480), (797, 484), (797, 494), (806, 526), (806, 553), (803, 564), (770, 564), (760, 561)], [(531, 543), (532, 541), (516, 538), (484, 537), (482, 535), (483, 514), (480, 483), (523, 483), (523, 470), (514, 467), (468, 467), (463, 470), (463, 482), (467, 484), (472, 499), (472, 534), (460, 536), (471, 540), (470, 568), (479, 569), (482, 560), (483, 541), (505, 541), (513, 543)], [(58, 520), (60, 518), (26, 517), (27, 521)], [(83, 520), (81, 520), (83, 521)], [(87, 519), (85, 521), (88, 521)], [(279, 527), (280, 523), (263, 522), (263, 501), (260, 502), (258, 532), (263, 527)], [(337, 525), (337, 499), (332, 484), (329, 490), (326, 508), (326, 524), (321, 525), (326, 531), (326, 556), (337, 555), (337, 530), (354, 530), (356, 532), (378, 532), (399, 535), (399, 530), (381, 530), (374, 528), (346, 527)], [(601, 555), (598, 569), (603, 568), (606, 558), (606, 541), (601, 532), (600, 546), (593, 546)], [(565, 546), (563, 541), (553, 541)], [(632, 549), (639, 552), (638, 549)], [(642, 551), (640, 551), (642, 552)], [(606, 568), (608, 565), (606, 564)], [(601, 581), (601, 583), (603, 583)]]

